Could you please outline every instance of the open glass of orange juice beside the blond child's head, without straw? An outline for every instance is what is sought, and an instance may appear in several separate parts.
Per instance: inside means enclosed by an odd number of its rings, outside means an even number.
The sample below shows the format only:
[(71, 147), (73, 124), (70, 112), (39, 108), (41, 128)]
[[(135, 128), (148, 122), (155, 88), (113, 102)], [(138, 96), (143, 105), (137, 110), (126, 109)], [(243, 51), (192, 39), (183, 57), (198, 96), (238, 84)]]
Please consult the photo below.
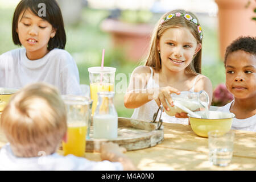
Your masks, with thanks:
[(84, 96), (62, 96), (67, 110), (67, 141), (62, 142), (64, 155), (84, 156), (86, 133), (92, 101)]

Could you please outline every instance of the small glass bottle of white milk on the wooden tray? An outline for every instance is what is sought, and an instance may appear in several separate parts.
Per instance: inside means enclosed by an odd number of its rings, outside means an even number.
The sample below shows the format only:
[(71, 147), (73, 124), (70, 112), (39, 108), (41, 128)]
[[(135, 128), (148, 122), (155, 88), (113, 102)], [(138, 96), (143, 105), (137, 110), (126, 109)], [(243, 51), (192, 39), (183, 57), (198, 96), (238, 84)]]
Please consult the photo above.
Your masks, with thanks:
[(98, 92), (93, 115), (93, 138), (117, 138), (118, 115), (113, 104), (114, 92)]

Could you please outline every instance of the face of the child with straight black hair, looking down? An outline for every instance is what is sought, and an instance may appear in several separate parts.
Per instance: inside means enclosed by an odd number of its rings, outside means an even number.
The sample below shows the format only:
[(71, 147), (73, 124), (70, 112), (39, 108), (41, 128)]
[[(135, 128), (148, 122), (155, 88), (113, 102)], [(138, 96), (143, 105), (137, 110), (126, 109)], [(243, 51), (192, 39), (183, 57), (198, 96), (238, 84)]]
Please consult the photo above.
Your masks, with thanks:
[(20, 43), (26, 48), (30, 60), (40, 59), (48, 52), (50, 38), (56, 34), (55, 29), (46, 20), (36, 16), (31, 10), (24, 10), (19, 15), (18, 28)]

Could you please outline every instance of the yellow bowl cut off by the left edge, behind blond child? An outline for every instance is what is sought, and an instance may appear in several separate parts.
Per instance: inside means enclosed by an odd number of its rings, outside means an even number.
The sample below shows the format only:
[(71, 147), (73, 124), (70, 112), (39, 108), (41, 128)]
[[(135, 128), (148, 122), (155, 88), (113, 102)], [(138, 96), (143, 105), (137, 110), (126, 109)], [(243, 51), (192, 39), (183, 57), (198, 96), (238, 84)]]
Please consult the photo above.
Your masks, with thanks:
[(5, 109), (5, 106), (10, 101), (11, 96), (13, 96), (13, 94), (17, 91), (18, 89), (0, 87), (0, 112), (2, 112), (3, 109)]

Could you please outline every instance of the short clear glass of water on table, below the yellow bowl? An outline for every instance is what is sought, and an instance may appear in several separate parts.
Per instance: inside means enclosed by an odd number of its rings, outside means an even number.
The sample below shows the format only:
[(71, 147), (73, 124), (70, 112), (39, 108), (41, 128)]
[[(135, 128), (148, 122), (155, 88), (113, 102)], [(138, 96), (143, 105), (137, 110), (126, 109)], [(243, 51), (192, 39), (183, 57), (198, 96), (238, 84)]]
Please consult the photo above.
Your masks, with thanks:
[(210, 163), (216, 166), (228, 166), (233, 156), (234, 132), (209, 131), (208, 144)]

